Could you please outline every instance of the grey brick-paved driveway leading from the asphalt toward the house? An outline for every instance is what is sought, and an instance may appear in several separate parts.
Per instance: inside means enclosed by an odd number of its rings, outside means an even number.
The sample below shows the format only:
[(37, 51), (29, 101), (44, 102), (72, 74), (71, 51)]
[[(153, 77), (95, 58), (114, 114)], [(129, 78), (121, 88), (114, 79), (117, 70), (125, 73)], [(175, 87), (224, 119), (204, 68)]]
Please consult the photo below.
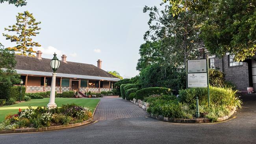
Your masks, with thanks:
[(122, 98), (101, 98), (93, 120), (115, 120), (144, 116), (148, 116), (148, 114), (143, 109)]

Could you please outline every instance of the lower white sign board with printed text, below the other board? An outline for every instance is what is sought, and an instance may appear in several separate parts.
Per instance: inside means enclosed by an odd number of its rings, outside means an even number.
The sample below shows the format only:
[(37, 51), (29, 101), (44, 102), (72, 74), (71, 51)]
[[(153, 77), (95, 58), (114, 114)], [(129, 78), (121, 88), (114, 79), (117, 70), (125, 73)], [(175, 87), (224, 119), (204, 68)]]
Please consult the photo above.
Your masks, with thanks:
[(187, 87), (208, 87), (207, 73), (187, 74)]

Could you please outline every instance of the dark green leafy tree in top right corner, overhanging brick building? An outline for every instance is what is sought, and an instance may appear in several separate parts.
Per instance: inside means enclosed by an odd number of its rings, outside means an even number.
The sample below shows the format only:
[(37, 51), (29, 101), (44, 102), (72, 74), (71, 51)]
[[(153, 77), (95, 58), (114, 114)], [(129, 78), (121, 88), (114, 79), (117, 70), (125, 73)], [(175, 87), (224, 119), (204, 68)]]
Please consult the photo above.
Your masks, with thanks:
[(256, 0), (219, 0), (202, 27), (206, 48), (221, 57), (229, 52), (235, 61), (256, 53)]

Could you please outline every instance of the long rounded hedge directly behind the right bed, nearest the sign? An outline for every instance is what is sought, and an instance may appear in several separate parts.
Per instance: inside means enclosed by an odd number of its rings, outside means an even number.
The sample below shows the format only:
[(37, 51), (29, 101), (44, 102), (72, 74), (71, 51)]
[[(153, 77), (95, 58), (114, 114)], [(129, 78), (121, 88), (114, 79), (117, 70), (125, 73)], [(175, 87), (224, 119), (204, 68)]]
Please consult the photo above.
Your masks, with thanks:
[(145, 89), (137, 90), (136, 99), (144, 100), (144, 98), (147, 98), (153, 94), (172, 94), (172, 89), (165, 87), (148, 87)]

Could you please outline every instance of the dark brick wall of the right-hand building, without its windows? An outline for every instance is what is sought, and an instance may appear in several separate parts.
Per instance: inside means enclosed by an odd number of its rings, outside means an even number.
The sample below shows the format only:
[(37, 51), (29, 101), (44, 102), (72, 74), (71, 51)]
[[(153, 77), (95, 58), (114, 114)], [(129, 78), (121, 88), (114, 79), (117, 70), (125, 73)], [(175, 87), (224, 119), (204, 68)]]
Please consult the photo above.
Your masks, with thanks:
[(223, 59), (215, 57), (214, 61), (215, 68), (220, 68), (227, 81), (233, 82), (239, 90), (247, 90), (247, 87), (249, 87), (248, 63), (244, 62), (243, 65), (229, 66), (228, 55), (225, 55)]

